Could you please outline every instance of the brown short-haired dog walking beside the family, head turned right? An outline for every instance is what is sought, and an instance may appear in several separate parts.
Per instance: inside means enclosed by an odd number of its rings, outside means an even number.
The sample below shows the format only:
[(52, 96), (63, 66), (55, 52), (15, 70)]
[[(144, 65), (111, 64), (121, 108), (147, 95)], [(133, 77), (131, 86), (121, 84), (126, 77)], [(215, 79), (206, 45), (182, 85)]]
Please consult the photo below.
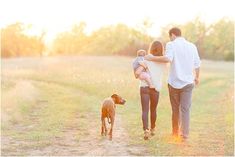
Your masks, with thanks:
[(111, 97), (104, 99), (101, 110), (101, 135), (107, 135), (107, 128), (105, 123), (105, 118), (108, 119), (108, 122), (111, 123), (111, 129), (109, 131), (110, 140), (112, 140), (113, 135), (113, 125), (115, 119), (115, 109), (116, 104), (124, 105), (126, 100), (120, 97), (117, 94), (113, 94)]

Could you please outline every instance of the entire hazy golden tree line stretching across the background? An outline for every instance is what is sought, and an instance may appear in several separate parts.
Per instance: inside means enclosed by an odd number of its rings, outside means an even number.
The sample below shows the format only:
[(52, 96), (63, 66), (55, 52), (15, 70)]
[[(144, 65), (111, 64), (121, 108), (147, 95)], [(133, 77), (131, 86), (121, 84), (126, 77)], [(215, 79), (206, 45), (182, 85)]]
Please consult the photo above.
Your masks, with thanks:
[(169, 24), (162, 27), (159, 37), (148, 35), (151, 22), (144, 21), (139, 28), (125, 24), (109, 25), (85, 33), (86, 23), (74, 25), (71, 30), (59, 33), (50, 48), (45, 44), (45, 32), (29, 36), (27, 27), (15, 23), (1, 29), (1, 56), (42, 56), (50, 55), (136, 55), (138, 49), (148, 49), (158, 39), (165, 45), (169, 41), (168, 30), (177, 26), (183, 36), (196, 44), (200, 57), (213, 60), (234, 60), (234, 21), (223, 18), (206, 25), (200, 18), (181, 25)]

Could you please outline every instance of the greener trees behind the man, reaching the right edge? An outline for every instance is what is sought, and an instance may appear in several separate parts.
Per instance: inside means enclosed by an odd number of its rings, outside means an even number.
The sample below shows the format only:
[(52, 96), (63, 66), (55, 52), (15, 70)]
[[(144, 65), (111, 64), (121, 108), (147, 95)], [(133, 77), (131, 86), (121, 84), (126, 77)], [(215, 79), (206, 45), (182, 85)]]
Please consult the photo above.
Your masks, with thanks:
[(223, 18), (207, 26), (199, 18), (183, 25), (169, 24), (162, 28), (161, 40), (168, 41), (171, 27), (181, 28), (183, 36), (193, 42), (200, 57), (212, 60), (234, 60), (234, 21)]

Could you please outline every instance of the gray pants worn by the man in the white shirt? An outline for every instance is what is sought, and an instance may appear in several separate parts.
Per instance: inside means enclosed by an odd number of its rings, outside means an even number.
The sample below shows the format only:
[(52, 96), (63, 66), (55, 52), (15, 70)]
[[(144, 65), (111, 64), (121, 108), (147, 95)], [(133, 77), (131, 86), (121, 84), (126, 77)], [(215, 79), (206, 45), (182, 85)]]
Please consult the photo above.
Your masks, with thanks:
[(172, 108), (172, 133), (173, 135), (188, 138), (190, 107), (192, 103), (192, 90), (194, 84), (188, 84), (181, 89), (173, 88), (168, 84)]

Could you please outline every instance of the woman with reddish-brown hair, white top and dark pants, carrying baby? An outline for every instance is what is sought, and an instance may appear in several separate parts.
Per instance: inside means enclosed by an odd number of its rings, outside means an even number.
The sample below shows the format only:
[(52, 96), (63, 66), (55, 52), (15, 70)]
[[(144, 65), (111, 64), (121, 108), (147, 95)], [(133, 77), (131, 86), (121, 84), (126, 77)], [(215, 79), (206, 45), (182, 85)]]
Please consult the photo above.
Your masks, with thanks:
[[(161, 42), (154, 41), (149, 47), (149, 53), (153, 56), (163, 56), (163, 46)], [(166, 67), (165, 63), (156, 63), (151, 61), (144, 61), (147, 71), (150, 74), (154, 88), (149, 88), (147, 83), (140, 81), (140, 97), (142, 105), (142, 122), (144, 130), (144, 139), (149, 138), (149, 134), (155, 134), (155, 123), (157, 118), (157, 105), (159, 99), (159, 92), (162, 86), (162, 75)], [(150, 109), (150, 132), (148, 127), (148, 113)]]

